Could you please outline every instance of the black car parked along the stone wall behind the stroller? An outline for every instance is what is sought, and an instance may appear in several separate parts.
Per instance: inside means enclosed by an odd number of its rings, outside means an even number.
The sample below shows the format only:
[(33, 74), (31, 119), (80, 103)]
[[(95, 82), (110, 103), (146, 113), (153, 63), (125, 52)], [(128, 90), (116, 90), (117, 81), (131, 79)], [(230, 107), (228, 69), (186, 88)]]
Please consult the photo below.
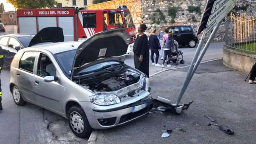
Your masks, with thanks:
[(173, 39), (176, 40), (179, 45), (186, 46), (190, 48), (196, 47), (198, 38), (196, 37), (196, 31), (191, 26), (170, 26), (169, 32), (173, 33)]

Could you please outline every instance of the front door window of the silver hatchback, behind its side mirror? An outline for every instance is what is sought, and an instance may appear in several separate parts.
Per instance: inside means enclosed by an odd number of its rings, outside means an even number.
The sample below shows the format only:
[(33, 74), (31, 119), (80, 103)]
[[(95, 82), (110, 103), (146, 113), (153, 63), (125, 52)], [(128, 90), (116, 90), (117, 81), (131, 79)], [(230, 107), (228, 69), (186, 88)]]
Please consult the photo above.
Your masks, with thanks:
[(41, 77), (56, 76), (55, 66), (52, 64), (51, 59), (43, 53), (39, 56), (36, 74)]

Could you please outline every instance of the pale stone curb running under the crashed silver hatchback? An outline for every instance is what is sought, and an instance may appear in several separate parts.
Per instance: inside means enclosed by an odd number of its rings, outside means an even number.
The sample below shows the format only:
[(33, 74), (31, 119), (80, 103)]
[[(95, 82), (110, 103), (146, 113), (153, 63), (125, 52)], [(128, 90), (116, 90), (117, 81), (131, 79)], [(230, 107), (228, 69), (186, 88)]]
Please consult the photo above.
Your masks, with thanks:
[[(207, 62), (211, 62), (211, 61), (215, 61), (215, 60), (220, 60), (220, 59), (222, 59), (222, 57), (221, 58), (212, 59), (212, 60), (203, 61), (200, 64), (204, 64), (204, 63), (207, 63)], [(151, 78), (154, 75), (157, 75), (159, 73), (165, 72), (165, 71), (171, 71), (171, 70), (174, 70), (174, 69), (181, 69), (181, 68), (185, 68), (185, 67), (189, 67), (189, 66), (190, 66), (190, 64), (186, 65), (186, 66), (182, 66), (182, 67), (175, 67), (175, 68), (170, 68), (170, 69), (164, 69), (162, 71), (159, 71), (159, 72), (156, 72), (156, 73), (150, 75), (149, 78)], [(99, 130), (93, 130), (91, 135), (90, 135), (90, 137), (89, 137), (89, 139), (88, 139), (88, 141), (87, 141), (88, 142), (87, 144), (95, 144), (97, 139), (98, 139), (98, 137), (99, 137), (99, 134), (100, 134)]]

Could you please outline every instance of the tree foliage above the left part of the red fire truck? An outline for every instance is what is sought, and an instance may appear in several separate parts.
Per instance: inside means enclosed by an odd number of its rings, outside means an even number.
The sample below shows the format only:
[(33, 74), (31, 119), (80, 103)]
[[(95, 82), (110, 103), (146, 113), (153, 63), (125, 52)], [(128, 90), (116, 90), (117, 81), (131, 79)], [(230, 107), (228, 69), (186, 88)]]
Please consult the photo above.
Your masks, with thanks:
[(52, 8), (57, 4), (56, 0), (6, 0), (17, 9)]

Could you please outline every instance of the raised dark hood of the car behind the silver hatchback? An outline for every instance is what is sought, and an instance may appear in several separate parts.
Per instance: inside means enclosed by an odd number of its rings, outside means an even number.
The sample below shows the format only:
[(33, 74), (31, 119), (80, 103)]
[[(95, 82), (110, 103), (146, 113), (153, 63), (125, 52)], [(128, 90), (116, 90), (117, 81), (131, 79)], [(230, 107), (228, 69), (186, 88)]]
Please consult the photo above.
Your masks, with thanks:
[(64, 42), (61, 27), (45, 27), (41, 29), (29, 42), (28, 47), (43, 42)]

